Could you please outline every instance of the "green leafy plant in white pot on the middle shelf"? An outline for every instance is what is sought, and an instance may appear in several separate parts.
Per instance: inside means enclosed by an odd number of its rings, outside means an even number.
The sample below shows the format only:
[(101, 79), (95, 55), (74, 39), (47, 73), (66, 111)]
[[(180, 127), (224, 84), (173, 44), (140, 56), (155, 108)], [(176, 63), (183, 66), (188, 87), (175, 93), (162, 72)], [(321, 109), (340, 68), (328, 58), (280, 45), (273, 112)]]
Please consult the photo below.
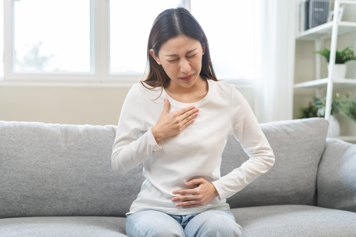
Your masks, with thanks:
[[(333, 72), (333, 78), (345, 78), (347, 65), (344, 64), (349, 60), (356, 60), (356, 56), (354, 51), (351, 49), (352, 47), (345, 47), (344, 50), (341, 52), (337, 51), (336, 49), (336, 56), (335, 56), (335, 67)], [(330, 50), (323, 47), (320, 51), (315, 51), (313, 54), (319, 53), (323, 55), (326, 59), (326, 62), (329, 63), (330, 59)], [(328, 70), (330, 70), (330, 64), (328, 64)]]

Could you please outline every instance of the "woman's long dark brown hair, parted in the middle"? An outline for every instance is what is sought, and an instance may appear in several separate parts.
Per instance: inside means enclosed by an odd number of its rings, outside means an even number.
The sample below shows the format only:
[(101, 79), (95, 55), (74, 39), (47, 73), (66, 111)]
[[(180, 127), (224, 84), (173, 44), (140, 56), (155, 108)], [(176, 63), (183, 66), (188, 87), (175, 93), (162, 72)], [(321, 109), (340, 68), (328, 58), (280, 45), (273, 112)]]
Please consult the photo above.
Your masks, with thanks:
[[(153, 49), (158, 57), (158, 51), (162, 44), (169, 38), (177, 36), (187, 36), (199, 41), (202, 47), (205, 45), (205, 51), (201, 59), (200, 75), (218, 81), (210, 59), (208, 39), (203, 29), (187, 9), (176, 7), (162, 11), (153, 22), (150, 36), (148, 37), (146, 70), (140, 81), (147, 89), (154, 89), (157, 86), (165, 87), (170, 80), (162, 65), (159, 65), (150, 54), (150, 49)], [(151, 88), (148, 88), (145, 83), (150, 85)]]

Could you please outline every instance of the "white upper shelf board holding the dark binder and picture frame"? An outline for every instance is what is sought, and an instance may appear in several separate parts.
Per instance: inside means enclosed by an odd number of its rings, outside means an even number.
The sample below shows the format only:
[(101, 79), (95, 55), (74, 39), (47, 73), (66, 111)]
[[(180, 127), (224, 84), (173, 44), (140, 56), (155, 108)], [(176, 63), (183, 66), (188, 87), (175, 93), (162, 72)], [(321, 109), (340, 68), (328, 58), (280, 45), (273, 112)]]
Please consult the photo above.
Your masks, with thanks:
[[(347, 32), (356, 30), (356, 22), (340, 21), (337, 24), (339, 25), (337, 35), (342, 35)], [(295, 39), (310, 41), (310, 40), (330, 38), (332, 29), (333, 29), (333, 21), (329, 21), (322, 25), (304, 31), (300, 35), (297, 35)]]

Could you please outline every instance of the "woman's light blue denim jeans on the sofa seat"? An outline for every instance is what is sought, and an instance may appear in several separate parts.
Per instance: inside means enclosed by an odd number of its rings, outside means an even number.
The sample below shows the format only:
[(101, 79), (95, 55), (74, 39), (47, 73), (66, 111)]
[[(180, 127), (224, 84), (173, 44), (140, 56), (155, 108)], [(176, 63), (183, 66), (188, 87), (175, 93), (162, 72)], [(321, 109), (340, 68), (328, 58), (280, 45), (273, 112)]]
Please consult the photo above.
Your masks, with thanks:
[(145, 210), (129, 214), (126, 235), (130, 237), (241, 237), (241, 226), (227, 210), (208, 209), (190, 215), (171, 215)]

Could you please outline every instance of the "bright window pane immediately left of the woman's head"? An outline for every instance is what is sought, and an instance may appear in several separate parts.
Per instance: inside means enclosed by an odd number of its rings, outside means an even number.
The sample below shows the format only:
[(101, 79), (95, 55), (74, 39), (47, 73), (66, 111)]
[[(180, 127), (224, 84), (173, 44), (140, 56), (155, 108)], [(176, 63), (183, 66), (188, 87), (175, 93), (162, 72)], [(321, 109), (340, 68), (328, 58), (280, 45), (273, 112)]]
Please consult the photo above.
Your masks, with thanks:
[(153, 21), (162, 11), (178, 5), (179, 0), (110, 0), (110, 72), (142, 75)]

